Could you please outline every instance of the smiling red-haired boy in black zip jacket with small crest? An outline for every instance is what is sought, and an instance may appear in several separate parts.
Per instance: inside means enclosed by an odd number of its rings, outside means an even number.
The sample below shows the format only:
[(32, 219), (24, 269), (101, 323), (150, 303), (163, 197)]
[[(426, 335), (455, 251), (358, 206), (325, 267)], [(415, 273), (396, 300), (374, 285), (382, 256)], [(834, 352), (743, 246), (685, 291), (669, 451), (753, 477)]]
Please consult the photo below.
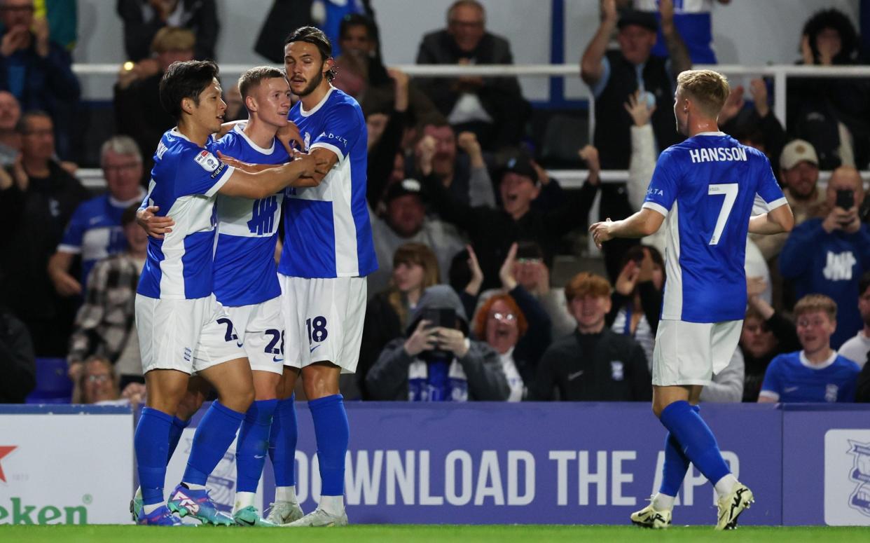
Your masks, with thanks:
[(605, 325), (611, 309), (610, 283), (589, 272), (565, 287), (577, 329), (555, 340), (538, 364), (530, 399), (561, 401), (649, 401), (652, 377), (643, 348)]

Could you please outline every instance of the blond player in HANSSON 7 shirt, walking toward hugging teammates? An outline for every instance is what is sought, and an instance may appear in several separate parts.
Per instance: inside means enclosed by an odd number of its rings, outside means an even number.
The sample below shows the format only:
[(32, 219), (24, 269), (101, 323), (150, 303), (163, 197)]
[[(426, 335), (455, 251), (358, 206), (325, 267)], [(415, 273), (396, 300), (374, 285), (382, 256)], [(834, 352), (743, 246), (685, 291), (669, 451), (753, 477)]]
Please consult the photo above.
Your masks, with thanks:
[[(666, 227), (667, 282), (653, 350), (653, 412), (668, 435), (659, 493), (632, 514), (632, 522), (641, 526), (670, 525), (690, 462), (719, 495), (718, 530), (736, 526), (753, 501), (752, 492), (726, 466), (697, 404), (701, 389), (728, 365), (740, 339), (746, 232), (791, 231), (794, 218), (764, 154), (719, 131), (716, 119), (728, 92), (725, 77), (715, 71), (680, 73), (673, 113), (686, 140), (659, 156), (640, 211), (589, 227), (599, 247), (612, 238), (648, 236), (662, 223)], [(769, 211), (750, 218), (756, 197)]]

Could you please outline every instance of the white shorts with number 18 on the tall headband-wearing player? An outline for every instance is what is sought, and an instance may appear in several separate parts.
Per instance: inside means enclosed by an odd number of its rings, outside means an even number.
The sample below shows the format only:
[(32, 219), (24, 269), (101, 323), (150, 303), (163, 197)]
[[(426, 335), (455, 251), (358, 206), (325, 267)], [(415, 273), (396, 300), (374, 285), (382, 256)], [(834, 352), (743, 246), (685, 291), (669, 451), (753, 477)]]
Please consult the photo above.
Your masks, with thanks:
[(284, 365), (329, 361), (357, 371), (365, 321), (365, 278), (297, 278), (278, 274), (284, 309)]

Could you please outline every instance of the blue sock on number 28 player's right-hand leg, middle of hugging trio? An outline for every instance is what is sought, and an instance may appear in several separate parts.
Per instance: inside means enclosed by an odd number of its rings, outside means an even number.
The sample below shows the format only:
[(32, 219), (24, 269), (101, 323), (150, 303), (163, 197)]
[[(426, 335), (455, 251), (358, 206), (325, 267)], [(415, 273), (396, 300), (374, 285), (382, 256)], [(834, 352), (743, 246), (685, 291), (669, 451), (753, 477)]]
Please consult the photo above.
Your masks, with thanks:
[(244, 415), (236, 445), (237, 492), (257, 492), (269, 449), (272, 413), (277, 404), (277, 399), (261, 399), (253, 402)]

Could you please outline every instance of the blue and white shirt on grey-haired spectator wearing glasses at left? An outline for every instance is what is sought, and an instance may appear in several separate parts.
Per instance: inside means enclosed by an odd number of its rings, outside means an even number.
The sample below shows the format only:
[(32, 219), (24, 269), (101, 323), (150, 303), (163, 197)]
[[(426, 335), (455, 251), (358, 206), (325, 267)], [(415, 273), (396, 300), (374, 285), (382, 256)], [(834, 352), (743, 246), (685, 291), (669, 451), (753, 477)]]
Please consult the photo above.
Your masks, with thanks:
[(127, 238), (121, 228), (121, 215), (131, 204), (142, 201), (140, 194), (127, 202), (112, 198), (106, 192), (79, 204), (66, 225), (64, 238), (57, 245), (58, 252), (81, 255), (82, 287), (87, 281), (90, 269), (97, 260), (124, 251)]

